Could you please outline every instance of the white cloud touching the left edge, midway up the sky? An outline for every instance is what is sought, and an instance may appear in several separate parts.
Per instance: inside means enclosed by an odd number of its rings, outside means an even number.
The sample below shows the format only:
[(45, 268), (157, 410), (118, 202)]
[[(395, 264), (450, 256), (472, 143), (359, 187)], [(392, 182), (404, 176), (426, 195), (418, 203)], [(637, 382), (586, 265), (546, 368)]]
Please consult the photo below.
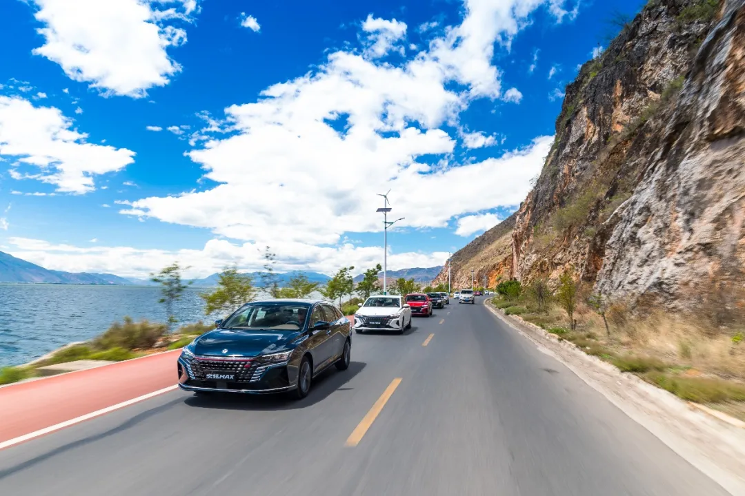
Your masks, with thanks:
[(0, 96), (0, 156), (16, 160), (11, 177), (55, 184), (64, 193), (87, 193), (95, 189), (95, 175), (134, 161), (135, 152), (87, 143), (87, 135), (72, 125), (59, 109)]

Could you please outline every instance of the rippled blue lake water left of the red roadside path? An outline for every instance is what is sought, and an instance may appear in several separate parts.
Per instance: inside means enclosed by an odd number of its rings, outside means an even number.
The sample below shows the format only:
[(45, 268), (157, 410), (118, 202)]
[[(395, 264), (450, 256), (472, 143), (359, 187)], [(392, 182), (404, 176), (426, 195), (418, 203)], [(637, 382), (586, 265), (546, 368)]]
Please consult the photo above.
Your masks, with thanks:
[[(176, 304), (180, 323), (205, 320), (200, 292)], [(0, 283), (0, 367), (39, 358), (72, 341), (86, 341), (129, 315), (165, 322), (157, 286)]]

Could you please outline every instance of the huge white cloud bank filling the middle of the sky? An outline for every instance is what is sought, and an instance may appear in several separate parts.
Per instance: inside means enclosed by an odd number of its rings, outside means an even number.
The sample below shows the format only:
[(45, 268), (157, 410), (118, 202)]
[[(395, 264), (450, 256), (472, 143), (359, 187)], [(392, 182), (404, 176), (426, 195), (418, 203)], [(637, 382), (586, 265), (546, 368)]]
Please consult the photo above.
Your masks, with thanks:
[[(462, 164), (451, 155), (459, 137), (441, 126), (457, 126), (476, 98), (519, 100), (519, 91), (501, 90), (494, 45), (506, 48), (541, 5), (548, 2), (466, 1), (462, 24), (443, 29), (408, 61), (332, 52), (314, 71), (229, 106), (219, 131), (211, 124), (196, 132), (196, 148), (186, 155), (215, 186), (133, 199), (121, 213), (244, 242), (325, 246), (343, 233), (378, 231), (375, 193), (389, 189), (394, 211), (406, 217), (402, 227), (409, 228), (444, 228), (454, 216), (515, 206), (553, 137)], [(368, 21), (364, 33), (387, 26), (405, 34), (402, 26), (386, 24), (393, 21)], [(487, 146), (495, 138), (468, 139)]]

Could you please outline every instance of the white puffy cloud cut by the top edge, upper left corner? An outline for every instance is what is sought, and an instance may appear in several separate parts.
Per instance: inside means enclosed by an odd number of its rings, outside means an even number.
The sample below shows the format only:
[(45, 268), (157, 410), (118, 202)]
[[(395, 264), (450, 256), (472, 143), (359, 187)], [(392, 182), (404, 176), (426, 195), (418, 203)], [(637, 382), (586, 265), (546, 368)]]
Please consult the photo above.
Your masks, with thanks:
[(186, 31), (172, 22), (188, 20), (197, 10), (195, 0), (30, 1), (38, 7), (37, 31), (45, 39), (34, 54), (59, 64), (72, 80), (129, 97), (165, 86), (180, 71), (167, 50), (183, 45)]

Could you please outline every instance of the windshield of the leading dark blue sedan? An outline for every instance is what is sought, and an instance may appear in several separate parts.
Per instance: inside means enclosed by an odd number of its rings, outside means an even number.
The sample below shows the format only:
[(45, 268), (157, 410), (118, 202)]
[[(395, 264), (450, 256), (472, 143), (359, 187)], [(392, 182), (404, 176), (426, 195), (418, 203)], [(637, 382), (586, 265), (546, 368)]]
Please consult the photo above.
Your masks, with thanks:
[(300, 303), (249, 303), (232, 315), (223, 329), (298, 330), (305, 324), (308, 306)]

